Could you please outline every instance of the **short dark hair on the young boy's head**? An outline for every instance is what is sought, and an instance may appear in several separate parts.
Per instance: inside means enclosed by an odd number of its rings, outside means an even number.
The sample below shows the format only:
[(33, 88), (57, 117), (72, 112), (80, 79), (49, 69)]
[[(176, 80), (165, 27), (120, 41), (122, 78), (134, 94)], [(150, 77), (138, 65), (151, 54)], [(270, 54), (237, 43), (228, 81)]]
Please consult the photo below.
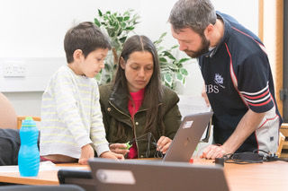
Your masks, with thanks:
[(67, 63), (74, 61), (73, 54), (76, 49), (81, 49), (86, 58), (97, 48), (111, 49), (111, 43), (93, 22), (81, 22), (67, 30), (64, 39)]

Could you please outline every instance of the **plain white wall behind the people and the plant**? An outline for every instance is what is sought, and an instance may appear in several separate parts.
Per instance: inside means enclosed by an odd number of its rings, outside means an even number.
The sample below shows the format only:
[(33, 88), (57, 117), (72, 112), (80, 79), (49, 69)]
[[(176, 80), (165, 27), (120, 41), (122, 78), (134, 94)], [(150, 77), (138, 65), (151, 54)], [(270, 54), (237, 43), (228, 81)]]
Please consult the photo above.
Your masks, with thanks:
[[(158, 39), (163, 32), (168, 32), (164, 45), (170, 48), (176, 41), (171, 37), (166, 21), (175, 2), (176, 0), (0, 0), (0, 58), (64, 58), (63, 39), (67, 29), (75, 22), (93, 21), (97, 9), (121, 13), (128, 8), (134, 9), (141, 17), (136, 32), (147, 35), (152, 40)], [(217, 10), (229, 13), (257, 33), (257, 0), (212, 0), (212, 3)], [(184, 56), (183, 53), (178, 55)], [(3, 63), (0, 62), (0, 89), (8, 84), (4, 81), (1, 65)], [(190, 78), (184, 89), (180, 88), (179, 91), (185, 95), (199, 96), (202, 76), (198, 65), (193, 63), (187, 67)], [(34, 69), (29, 67), (27, 70)], [(53, 71), (54, 68), (45, 69), (47, 75)], [(18, 115), (40, 116), (41, 93), (28, 91), (4, 94), (13, 102)]]

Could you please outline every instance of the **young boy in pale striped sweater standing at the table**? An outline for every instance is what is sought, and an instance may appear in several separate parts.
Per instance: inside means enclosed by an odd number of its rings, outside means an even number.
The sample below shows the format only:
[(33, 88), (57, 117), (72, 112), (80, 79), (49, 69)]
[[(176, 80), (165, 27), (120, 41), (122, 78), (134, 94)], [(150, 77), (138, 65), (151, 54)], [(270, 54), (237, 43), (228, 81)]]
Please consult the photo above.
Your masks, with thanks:
[(109, 39), (93, 22), (82, 22), (67, 31), (64, 48), (67, 65), (53, 74), (42, 96), (41, 161), (87, 164), (94, 150), (103, 158), (123, 159), (109, 150), (94, 80), (111, 49)]

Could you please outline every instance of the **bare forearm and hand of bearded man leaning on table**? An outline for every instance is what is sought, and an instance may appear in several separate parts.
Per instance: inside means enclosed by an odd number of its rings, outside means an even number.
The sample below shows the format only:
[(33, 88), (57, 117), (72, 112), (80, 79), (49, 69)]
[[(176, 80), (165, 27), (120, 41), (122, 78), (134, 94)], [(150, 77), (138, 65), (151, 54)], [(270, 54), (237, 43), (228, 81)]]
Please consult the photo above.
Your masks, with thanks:
[(201, 158), (215, 159), (223, 157), (225, 154), (236, 152), (247, 137), (257, 129), (265, 114), (255, 113), (249, 109), (229, 139), (221, 146), (210, 145), (202, 152)]

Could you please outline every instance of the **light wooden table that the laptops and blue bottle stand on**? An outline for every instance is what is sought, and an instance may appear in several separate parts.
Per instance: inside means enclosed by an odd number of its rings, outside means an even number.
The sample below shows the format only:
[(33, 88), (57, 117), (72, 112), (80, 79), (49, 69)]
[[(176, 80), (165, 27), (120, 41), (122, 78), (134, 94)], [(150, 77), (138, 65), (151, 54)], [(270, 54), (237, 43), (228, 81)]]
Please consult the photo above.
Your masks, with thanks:
[[(214, 165), (211, 160), (194, 160), (194, 164)], [(58, 164), (58, 166), (79, 167), (81, 165)], [(231, 191), (288, 190), (288, 162), (225, 163), (224, 173)], [(36, 178), (22, 178), (18, 172), (0, 172), (0, 182), (27, 185), (58, 185), (58, 177), (57, 171), (40, 171)], [(203, 184), (205, 184), (204, 180)]]

